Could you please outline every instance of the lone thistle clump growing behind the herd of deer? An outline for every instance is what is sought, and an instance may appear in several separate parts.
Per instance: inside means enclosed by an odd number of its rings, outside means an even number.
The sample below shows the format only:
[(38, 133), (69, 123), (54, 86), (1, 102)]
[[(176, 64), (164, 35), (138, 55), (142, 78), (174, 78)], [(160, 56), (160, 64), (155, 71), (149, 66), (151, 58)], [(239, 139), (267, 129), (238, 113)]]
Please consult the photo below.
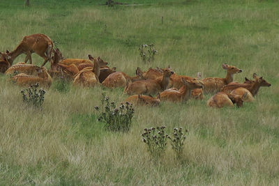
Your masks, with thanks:
[(158, 51), (154, 49), (154, 44), (150, 45), (140, 45), (139, 48), (140, 51), (140, 57), (142, 58), (142, 61), (146, 63), (154, 61), (155, 54), (158, 54)]

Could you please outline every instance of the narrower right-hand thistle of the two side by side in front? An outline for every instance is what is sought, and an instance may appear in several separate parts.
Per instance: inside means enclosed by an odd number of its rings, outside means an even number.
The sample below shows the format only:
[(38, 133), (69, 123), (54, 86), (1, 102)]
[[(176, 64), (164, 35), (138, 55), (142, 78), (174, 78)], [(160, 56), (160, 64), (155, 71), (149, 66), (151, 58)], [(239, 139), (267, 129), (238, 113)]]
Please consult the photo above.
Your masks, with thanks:
[[(188, 130), (185, 130), (185, 132), (188, 132)], [(180, 158), (183, 155), (183, 145), (186, 139), (186, 134), (183, 133), (183, 129), (180, 127), (179, 129), (174, 128), (172, 136), (173, 137), (168, 138), (171, 139), (172, 149), (176, 153), (176, 157)]]

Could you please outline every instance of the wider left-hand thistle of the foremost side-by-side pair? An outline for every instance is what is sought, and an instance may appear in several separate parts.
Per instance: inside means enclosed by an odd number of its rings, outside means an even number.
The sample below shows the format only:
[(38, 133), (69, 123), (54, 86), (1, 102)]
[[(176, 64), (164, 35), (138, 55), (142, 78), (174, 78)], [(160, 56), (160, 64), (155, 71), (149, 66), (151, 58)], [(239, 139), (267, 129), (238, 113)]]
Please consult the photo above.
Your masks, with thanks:
[(167, 137), (165, 126), (145, 128), (142, 133), (142, 141), (147, 145), (147, 150), (153, 157), (160, 157), (165, 153), (167, 147)]

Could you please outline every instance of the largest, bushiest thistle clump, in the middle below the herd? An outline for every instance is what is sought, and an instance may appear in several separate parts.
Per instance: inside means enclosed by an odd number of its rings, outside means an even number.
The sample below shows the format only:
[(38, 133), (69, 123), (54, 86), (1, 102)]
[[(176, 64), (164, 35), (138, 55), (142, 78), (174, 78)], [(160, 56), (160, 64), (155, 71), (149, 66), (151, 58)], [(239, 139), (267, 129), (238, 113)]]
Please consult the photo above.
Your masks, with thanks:
[(110, 102), (110, 98), (102, 93), (102, 106), (96, 106), (98, 113), (98, 121), (105, 123), (105, 129), (110, 131), (128, 132), (134, 116), (133, 105), (129, 102), (122, 104), (116, 108), (114, 102)]

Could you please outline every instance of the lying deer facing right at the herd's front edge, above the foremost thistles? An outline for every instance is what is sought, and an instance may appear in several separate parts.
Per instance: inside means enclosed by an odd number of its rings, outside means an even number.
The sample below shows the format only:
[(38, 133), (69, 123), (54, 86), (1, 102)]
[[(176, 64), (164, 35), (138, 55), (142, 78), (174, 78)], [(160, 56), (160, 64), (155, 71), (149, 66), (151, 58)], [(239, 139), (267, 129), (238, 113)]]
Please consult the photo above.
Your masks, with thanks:
[(189, 80), (182, 78), (181, 82), (183, 82), (183, 86), (181, 86), (179, 90), (177, 90), (176, 88), (169, 88), (160, 93), (160, 100), (171, 102), (186, 102), (190, 99), (193, 89), (204, 88), (204, 83), (196, 78)]

